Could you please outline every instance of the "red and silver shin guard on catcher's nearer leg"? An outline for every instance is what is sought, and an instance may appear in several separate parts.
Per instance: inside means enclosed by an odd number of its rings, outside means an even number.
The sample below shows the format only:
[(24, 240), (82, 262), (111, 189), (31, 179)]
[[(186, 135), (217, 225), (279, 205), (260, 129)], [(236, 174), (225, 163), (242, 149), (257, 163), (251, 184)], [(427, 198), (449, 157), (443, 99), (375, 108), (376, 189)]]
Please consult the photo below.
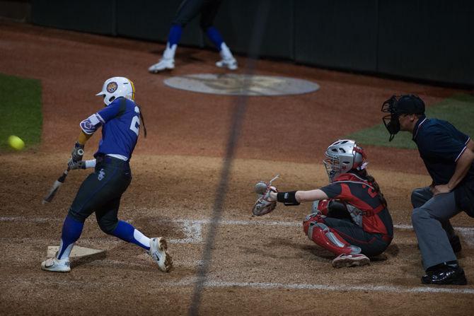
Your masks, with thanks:
[(312, 222), (308, 226), (308, 238), (316, 245), (323, 247), (333, 254), (358, 254), (362, 250), (360, 247), (349, 244), (335, 230), (323, 223)]

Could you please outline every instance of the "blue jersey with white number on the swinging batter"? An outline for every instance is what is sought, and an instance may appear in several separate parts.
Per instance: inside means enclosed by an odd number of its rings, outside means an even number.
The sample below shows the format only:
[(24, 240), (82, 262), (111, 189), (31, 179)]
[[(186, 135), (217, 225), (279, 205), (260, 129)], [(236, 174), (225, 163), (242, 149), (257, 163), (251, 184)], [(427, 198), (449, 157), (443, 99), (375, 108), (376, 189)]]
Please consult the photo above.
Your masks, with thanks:
[(140, 128), (140, 110), (132, 101), (117, 98), (88, 119), (81, 122), (86, 134), (93, 134), (102, 126), (102, 139), (99, 142), (99, 155), (120, 155), (129, 160), (137, 144)]

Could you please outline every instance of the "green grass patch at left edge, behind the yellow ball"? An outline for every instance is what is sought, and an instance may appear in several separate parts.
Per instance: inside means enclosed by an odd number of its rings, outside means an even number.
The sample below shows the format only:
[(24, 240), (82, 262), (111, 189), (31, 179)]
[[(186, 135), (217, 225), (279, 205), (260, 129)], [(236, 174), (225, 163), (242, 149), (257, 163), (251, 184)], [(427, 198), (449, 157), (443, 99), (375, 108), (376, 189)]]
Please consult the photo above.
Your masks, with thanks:
[(42, 103), (39, 80), (0, 74), (0, 149), (9, 149), (8, 136), (23, 139), (25, 148), (41, 141)]

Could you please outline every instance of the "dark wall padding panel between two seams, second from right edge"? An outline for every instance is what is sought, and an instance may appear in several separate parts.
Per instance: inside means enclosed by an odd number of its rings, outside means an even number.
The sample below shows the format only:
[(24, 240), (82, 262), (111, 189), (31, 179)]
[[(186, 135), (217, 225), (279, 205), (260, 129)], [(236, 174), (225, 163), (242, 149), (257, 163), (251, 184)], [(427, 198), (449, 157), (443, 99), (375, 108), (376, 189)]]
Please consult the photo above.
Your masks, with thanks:
[(301, 0), (295, 8), (295, 60), (375, 72), (377, 0)]

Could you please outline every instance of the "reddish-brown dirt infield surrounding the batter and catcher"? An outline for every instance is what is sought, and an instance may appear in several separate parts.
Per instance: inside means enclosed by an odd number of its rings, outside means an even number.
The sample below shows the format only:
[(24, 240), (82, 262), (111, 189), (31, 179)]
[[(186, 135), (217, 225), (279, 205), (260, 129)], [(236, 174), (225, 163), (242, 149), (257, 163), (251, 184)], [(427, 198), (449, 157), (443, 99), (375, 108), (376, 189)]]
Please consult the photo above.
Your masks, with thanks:
[[(0, 23), (0, 72), (40, 79), (44, 114), (39, 148), (0, 153), (1, 315), (187, 313), (236, 97), (164, 86), (170, 73), (146, 72), (161, 49), (149, 42)], [(179, 47), (173, 74), (223, 72), (214, 66), (216, 58), (214, 52)], [(243, 73), (245, 58), (238, 60)], [(257, 180), (280, 173), (282, 190), (325, 185), (320, 163), (325, 147), (378, 124), (380, 104), (393, 93), (417, 93), (431, 105), (458, 91), (282, 62), (258, 62), (257, 72), (316, 81), (320, 90), (248, 100), (200, 314), (471, 315), (472, 218), (461, 214), (452, 221), (463, 239), (460, 261), (468, 286), (420, 284), (409, 197), (429, 178), (416, 151), (364, 146), (395, 223), (386, 256), (368, 267), (331, 267), (331, 254), (302, 233), (309, 205), (250, 216)], [(95, 94), (110, 76), (134, 81), (149, 133), (132, 158), (134, 180), (120, 216), (146, 235), (170, 240), (175, 263), (170, 274), (158, 271), (138, 247), (103, 234), (93, 217), (78, 245), (106, 250), (105, 255), (73, 260), (69, 274), (40, 270), (88, 171), (71, 172), (52, 204), (40, 201), (64, 168), (79, 122), (102, 106)], [(97, 141), (94, 136), (87, 145), (86, 158)]]

